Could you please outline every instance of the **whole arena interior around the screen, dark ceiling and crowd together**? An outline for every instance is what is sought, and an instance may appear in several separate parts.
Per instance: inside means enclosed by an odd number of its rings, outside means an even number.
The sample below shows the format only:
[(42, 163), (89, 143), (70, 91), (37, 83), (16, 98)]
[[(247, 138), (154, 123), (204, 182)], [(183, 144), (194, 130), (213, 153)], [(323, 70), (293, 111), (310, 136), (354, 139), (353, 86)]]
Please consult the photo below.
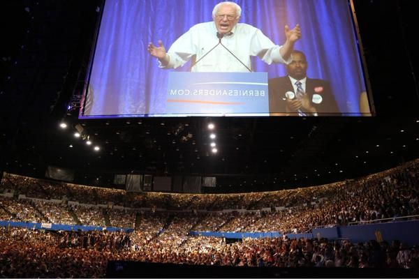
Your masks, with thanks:
[(0, 278), (418, 278), (413, 3), (353, 0), (373, 116), (79, 119), (103, 1), (2, 1)]

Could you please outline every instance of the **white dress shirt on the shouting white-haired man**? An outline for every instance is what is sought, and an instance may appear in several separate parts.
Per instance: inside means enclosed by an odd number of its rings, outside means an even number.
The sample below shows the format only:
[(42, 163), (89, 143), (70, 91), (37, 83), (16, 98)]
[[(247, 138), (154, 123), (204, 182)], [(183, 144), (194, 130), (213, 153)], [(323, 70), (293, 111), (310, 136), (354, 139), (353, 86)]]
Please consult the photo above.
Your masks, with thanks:
[[(196, 24), (189, 31), (180, 36), (168, 50), (170, 61), (166, 67), (177, 68), (183, 66), (196, 54), (195, 61), (209, 52), (219, 43), (216, 37), (214, 22)], [(250, 56), (258, 56), (267, 64), (290, 63), (291, 57), (285, 61), (279, 50), (281, 46), (272, 43), (260, 29), (249, 24), (238, 23), (230, 35), (224, 35), (221, 43), (233, 52), (247, 67), (251, 68)], [(203, 60), (191, 68), (192, 72), (249, 72), (242, 63), (237, 61), (222, 45), (218, 45)]]

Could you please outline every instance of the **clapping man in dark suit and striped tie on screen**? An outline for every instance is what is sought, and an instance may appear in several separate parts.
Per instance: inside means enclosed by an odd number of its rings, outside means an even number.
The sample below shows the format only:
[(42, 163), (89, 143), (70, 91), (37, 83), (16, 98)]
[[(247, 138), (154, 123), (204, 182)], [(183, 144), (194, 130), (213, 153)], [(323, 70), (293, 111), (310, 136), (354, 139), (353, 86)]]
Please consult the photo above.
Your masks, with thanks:
[(270, 115), (318, 116), (340, 114), (329, 82), (307, 77), (307, 59), (293, 50), (285, 77), (269, 80)]

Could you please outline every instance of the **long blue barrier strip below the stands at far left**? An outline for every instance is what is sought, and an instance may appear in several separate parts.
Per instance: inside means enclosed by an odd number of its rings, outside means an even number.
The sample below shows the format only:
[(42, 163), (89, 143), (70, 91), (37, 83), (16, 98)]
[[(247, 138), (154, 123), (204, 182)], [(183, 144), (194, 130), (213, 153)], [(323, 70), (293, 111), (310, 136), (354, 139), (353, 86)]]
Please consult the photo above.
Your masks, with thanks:
[(134, 229), (122, 229), (120, 227), (97, 227), (97, 226), (80, 226), (80, 225), (61, 225), (61, 224), (41, 224), (27, 222), (0, 221), (0, 227), (26, 227), (27, 229), (50, 229), (53, 231), (102, 231), (106, 229), (108, 232), (133, 232)]

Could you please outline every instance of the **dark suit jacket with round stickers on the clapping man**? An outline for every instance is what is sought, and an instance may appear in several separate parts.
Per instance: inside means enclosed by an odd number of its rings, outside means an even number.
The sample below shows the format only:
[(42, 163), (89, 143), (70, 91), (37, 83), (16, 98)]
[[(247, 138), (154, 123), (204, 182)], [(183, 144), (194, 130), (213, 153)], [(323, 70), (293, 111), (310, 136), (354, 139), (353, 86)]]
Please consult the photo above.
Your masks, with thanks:
[[(291, 84), (291, 80), (288, 76), (277, 77), (269, 80), (270, 114), (286, 114), (285, 93), (288, 91), (295, 93), (293, 84)], [(339, 107), (337, 107), (337, 103), (330, 89), (329, 82), (326, 82), (325, 80), (317, 80), (307, 77), (306, 93), (309, 94), (309, 100), (311, 102), (311, 105), (316, 107), (318, 115), (340, 115)], [(316, 96), (314, 96), (313, 98), (314, 94), (316, 94)], [(319, 103), (320, 100), (321, 102)], [(297, 116), (298, 114), (290, 115)]]

